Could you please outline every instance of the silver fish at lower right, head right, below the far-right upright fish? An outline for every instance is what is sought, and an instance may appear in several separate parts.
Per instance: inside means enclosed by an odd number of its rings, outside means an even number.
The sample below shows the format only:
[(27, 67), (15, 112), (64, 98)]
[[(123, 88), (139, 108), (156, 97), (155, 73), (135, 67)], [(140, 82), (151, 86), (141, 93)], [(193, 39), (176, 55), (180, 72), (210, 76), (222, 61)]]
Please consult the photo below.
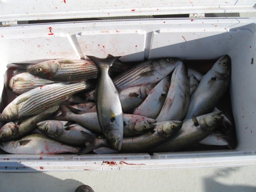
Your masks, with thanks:
[(150, 152), (170, 152), (198, 143), (220, 124), (222, 112), (212, 112), (183, 122), (181, 130), (168, 141), (150, 149)]

